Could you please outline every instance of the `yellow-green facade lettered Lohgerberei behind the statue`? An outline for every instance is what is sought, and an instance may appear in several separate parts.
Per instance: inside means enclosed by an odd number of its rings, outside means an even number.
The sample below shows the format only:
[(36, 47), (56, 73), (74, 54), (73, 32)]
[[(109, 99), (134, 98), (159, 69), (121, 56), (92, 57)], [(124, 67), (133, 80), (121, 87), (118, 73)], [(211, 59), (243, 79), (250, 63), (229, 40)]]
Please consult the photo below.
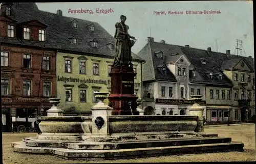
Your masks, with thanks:
[[(97, 55), (57, 54), (57, 97), (60, 108), (75, 109), (80, 114), (90, 114), (97, 103), (94, 92), (111, 92), (109, 73), (113, 58), (99, 58)], [(141, 61), (133, 61), (135, 76), (134, 93), (141, 99)], [(104, 100), (109, 103), (108, 99)]]

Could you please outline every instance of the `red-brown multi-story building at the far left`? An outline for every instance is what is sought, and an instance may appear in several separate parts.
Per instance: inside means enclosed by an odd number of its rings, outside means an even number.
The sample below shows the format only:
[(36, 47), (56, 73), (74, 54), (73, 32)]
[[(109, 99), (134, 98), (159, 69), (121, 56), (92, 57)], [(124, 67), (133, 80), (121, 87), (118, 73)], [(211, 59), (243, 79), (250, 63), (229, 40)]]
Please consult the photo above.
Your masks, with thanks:
[[(48, 25), (33, 12), (36, 6), (1, 5), (1, 88), (3, 131), (12, 122), (30, 122), (56, 97), (55, 51), (45, 34)], [(22, 123), (20, 123), (22, 124)]]

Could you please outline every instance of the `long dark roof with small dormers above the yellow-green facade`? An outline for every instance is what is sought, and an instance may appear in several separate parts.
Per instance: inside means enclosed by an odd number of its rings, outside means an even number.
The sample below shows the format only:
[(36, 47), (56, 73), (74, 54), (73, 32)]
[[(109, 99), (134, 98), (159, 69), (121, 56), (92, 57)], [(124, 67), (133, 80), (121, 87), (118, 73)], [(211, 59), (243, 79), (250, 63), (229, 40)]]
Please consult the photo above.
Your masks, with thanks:
[[(106, 56), (114, 58), (115, 52), (109, 48), (106, 43), (115, 41), (114, 37), (110, 35), (97, 22), (83, 20), (78, 18), (59, 16), (56, 13), (38, 10), (35, 3), (13, 3), (12, 11), (14, 15), (11, 18), (17, 20), (18, 23), (37, 20), (41, 23), (47, 24), (47, 37), (45, 43), (35, 42), (30, 40), (20, 40), (17, 38), (1, 37), (2, 43), (29, 45), (45, 48), (56, 48), (62, 51), (69, 51), (72, 53), (94, 54), (99, 56)], [(71, 20), (76, 20), (78, 28), (74, 29)], [(89, 25), (94, 24), (95, 31), (88, 30)], [(79, 40), (79, 46), (71, 44), (68, 38), (76, 35)], [(89, 39), (97, 38), (97, 48), (92, 47)], [(135, 60), (143, 61), (141, 58), (132, 53)]]

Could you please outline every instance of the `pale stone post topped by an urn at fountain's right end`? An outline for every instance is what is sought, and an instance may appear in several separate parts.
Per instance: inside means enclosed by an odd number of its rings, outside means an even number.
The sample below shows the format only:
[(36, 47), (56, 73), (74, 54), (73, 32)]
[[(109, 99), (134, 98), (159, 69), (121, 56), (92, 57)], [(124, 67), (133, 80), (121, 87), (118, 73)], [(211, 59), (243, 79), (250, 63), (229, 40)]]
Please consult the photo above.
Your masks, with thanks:
[(189, 108), (190, 116), (198, 116), (198, 126), (197, 126), (195, 132), (204, 133), (204, 117), (203, 117), (204, 108), (202, 106), (200, 106), (199, 103), (197, 103), (197, 101), (201, 100), (202, 96), (195, 95), (195, 96), (190, 96), (190, 97), (191, 97), (191, 100), (195, 101), (193, 106), (191, 108)]

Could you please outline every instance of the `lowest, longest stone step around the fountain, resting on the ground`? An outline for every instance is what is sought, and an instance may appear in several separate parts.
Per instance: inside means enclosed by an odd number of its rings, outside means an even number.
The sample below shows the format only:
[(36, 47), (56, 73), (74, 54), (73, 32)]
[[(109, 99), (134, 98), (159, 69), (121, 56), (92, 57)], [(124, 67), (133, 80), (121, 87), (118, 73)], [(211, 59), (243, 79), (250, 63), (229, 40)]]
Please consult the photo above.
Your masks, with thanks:
[(25, 143), (15, 145), (15, 152), (22, 153), (41, 153), (57, 155), (66, 159), (79, 160), (105, 160), (120, 159), (131, 157), (151, 157), (177, 154), (195, 154), (195, 153), (213, 153), (227, 151), (243, 151), (242, 142), (218, 143), (218, 144), (200, 144), (200, 145), (182, 145), (165, 147), (147, 147), (135, 149), (115, 149), (115, 150), (77, 150), (51, 147), (30, 147)]

